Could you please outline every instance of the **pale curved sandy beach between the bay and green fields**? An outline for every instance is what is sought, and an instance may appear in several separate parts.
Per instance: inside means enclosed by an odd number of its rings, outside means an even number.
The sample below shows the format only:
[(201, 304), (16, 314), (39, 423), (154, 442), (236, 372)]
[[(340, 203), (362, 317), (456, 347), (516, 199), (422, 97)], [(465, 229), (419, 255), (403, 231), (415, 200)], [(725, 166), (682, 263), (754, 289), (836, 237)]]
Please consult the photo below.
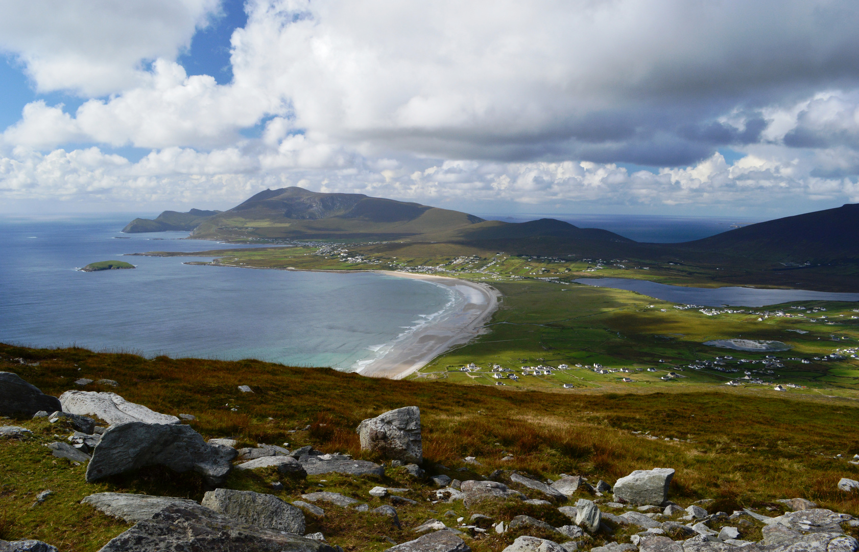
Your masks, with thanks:
[(424, 328), (417, 328), (401, 335), (388, 344), (390, 350), (380, 359), (362, 366), (357, 372), (362, 376), (390, 377), (402, 379), (420, 370), (438, 355), (455, 345), (471, 340), (482, 334), (484, 323), (498, 308), (501, 294), (489, 285), (470, 282), (465, 279), (444, 278), (427, 274), (395, 273), (374, 271), (386, 276), (423, 279), (437, 285), (450, 287), (459, 297), (457, 305)]

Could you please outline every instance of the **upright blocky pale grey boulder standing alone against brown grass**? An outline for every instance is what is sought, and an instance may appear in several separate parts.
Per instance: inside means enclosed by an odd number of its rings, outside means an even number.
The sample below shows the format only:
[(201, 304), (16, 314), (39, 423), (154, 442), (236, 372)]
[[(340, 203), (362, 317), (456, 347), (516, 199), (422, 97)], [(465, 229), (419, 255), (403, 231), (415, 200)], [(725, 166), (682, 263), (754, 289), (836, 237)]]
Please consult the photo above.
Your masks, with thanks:
[(374, 451), (393, 460), (423, 463), (421, 411), (417, 407), (397, 408), (363, 420), (357, 427), (362, 451)]

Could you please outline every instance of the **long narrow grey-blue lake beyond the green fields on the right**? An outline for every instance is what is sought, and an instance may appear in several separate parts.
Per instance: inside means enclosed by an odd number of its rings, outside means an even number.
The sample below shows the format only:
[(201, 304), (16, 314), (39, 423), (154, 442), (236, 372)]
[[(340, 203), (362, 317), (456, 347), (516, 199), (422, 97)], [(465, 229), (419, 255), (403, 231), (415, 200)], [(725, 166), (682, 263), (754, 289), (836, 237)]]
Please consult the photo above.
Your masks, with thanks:
[(830, 293), (807, 290), (765, 290), (753, 287), (686, 287), (657, 284), (644, 279), (581, 278), (579, 284), (611, 287), (616, 290), (637, 291), (642, 295), (681, 304), (707, 307), (763, 307), (790, 301), (859, 301), (859, 293)]

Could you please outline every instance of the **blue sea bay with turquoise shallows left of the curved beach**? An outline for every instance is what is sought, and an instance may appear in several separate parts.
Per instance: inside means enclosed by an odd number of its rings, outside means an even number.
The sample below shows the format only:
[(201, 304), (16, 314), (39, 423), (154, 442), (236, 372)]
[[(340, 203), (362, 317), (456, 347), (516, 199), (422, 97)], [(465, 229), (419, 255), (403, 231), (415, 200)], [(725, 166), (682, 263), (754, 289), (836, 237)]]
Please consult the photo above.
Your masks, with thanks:
[[(442, 285), (374, 273), (200, 267), (182, 264), (198, 257), (123, 257), (236, 247), (177, 239), (186, 232), (125, 236), (119, 230), (127, 222), (0, 221), (0, 341), (350, 371), (454, 304)], [(137, 268), (75, 270), (114, 259)]]

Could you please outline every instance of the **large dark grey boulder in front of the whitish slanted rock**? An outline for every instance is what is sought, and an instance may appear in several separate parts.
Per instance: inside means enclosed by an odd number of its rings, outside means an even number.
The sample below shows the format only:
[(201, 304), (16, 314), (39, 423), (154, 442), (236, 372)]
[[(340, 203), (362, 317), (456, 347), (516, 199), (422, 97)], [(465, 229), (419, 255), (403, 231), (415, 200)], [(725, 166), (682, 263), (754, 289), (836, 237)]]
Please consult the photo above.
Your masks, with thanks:
[(211, 486), (229, 474), (235, 449), (206, 443), (191, 426), (132, 421), (111, 426), (101, 435), (87, 467), (87, 481), (161, 464), (175, 471), (193, 469)]

